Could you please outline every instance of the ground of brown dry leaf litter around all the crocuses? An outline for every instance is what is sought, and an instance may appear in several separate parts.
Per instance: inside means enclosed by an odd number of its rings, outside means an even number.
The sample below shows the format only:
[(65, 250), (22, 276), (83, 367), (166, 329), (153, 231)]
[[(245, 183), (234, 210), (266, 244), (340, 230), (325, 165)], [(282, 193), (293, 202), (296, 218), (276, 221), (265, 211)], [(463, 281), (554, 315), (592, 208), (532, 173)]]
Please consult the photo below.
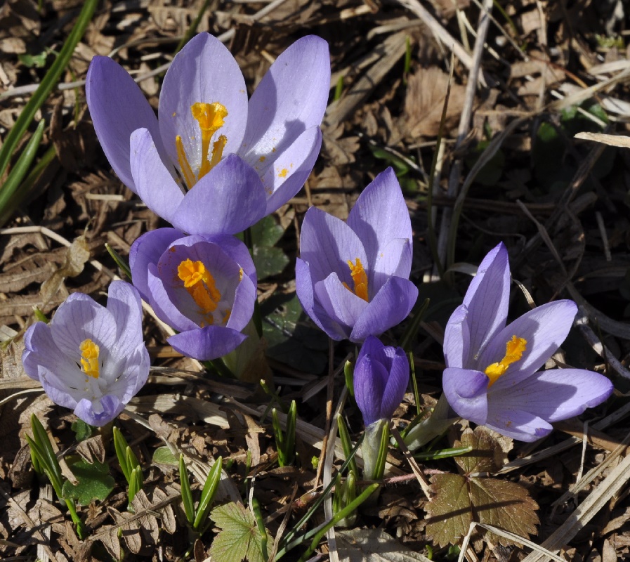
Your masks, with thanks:
[[(203, 481), (209, 459), (222, 455), (224, 462), (229, 460), (219, 503), (230, 499), (249, 504), (253, 493), (270, 532), (272, 552), (273, 539), (280, 540), (308, 511), (314, 497), (307, 493), (322, 490), (322, 471), (325, 476), (329, 470), (323, 467), (324, 435), (343, 387), (343, 377), (327, 377), (327, 339), (300, 315), (294, 299), (301, 219), (311, 204), (346, 218), (362, 188), (391, 165), (414, 226), (412, 280), (424, 281), (419, 285), (421, 299), (431, 298), (413, 344), (421, 407), (432, 405), (439, 396), (444, 367), (441, 336), (468, 284), (462, 273), (438, 281), (432, 242), (442, 264), (449, 268), (455, 263), (454, 270), (461, 271), (464, 266), (457, 264), (476, 266), (503, 240), (513, 278), (534, 303), (570, 298), (581, 306), (583, 325), (572, 331), (561, 360), (603, 372), (615, 381), (615, 398), (586, 414), (593, 423), (603, 421), (590, 430), (584, 450), (584, 424), (577, 419), (533, 445), (501, 442), (511, 470), (494, 478), (527, 490), (539, 506), (538, 525), (527, 515), (520, 527), (504, 525), (501, 518), (484, 520), (478, 513), (471, 518), (511, 528), (520, 536), (529, 532), (536, 544), (559, 549), (565, 560), (630, 559), (625, 486), (630, 472), (615, 473), (624, 462), (630, 431), (624, 417), (629, 412), (624, 394), (630, 387), (625, 367), (630, 352), (630, 150), (574, 138), (580, 131), (626, 133), (630, 20), (622, 1), (499, 1), (494, 7), (490, 2), (487, 29), (479, 23), (479, 6), (466, 0), (207, 3), (198, 30), (223, 34), (250, 93), (294, 40), (317, 34), (329, 41), (332, 84), (322, 125), (324, 144), (306, 189), (254, 233), (267, 358), (257, 356), (249, 382), (204, 374), (196, 362), (166, 346), (164, 332), (147, 316), (145, 338), (156, 368), (132, 400), (129, 414), (117, 421), (143, 466), (145, 496), (136, 506), (140, 516), (128, 521), (127, 485), (110, 434), (93, 433), (77, 446), (74, 415), (53, 405), (25, 376), (21, 334), (34, 322), (33, 306), (50, 315), (75, 291), (103, 301), (99, 295), (107, 291), (112, 275), (121, 275), (105, 243), (126, 258), (140, 234), (165, 226), (107, 163), (81, 80), (93, 55), (112, 55), (132, 74), (147, 76), (139, 84), (157, 107), (162, 72), (152, 70), (172, 60), (202, 4), (159, 0), (100, 4), (61, 77), (62, 83), (78, 84), (54, 89), (36, 115), (46, 120), (37, 159), (44, 159), (51, 148), (55, 152), (29, 189), (22, 191), (18, 209), (5, 216), (4, 228), (9, 230), (0, 236), (0, 333), (3, 339), (12, 339), (3, 348), (0, 374), (0, 398), (6, 399), (0, 406), (0, 557), (79, 561), (111, 560), (114, 554), (128, 560), (171, 561), (194, 544), (190, 556), (204, 560), (218, 528), (211, 525), (196, 542), (187, 531), (177, 471), (155, 456), (165, 446), (185, 452), (197, 480)], [(31, 0), (8, 0), (0, 7), (1, 138), (6, 138), (44, 77), (53, 53), (67, 40), (81, 5), (53, 0), (38, 7)], [(478, 53), (477, 31), (486, 38)], [(475, 63), (480, 63), (476, 78), (471, 72)], [(451, 65), (445, 130), (432, 183), (431, 163)], [(460, 119), (463, 112), (470, 118)], [(71, 250), (64, 241), (75, 241)], [(527, 301), (513, 292), (511, 311), (523, 313)], [(405, 326), (384, 339), (398, 341)], [(348, 344), (337, 345), (332, 366), (341, 365), (353, 352)], [(303, 423), (298, 425), (294, 467), (277, 466), (266, 409), (270, 397), (258, 387), (263, 377), (273, 378), (283, 403), (297, 400)], [(19, 391), (26, 392), (16, 395)], [(415, 411), (409, 393), (396, 412), (397, 424), (407, 424)], [(362, 431), (360, 414), (349, 402), (345, 412), (356, 438)], [(78, 540), (46, 479), (36, 478), (31, 469), (24, 435), (31, 431), (32, 413), (44, 422), (68, 464), (81, 455), (110, 465), (115, 480), (110, 495), (79, 508), (90, 530), (86, 541)], [(438, 448), (460, 440), (461, 431), (457, 426)], [(381, 545), (381, 554), (374, 558), (379, 560), (417, 559), (409, 550), (436, 560), (457, 557), (447, 544), (461, 544), (459, 528), (427, 527), (427, 511), (431, 514), (433, 509), (435, 516), (437, 508), (428, 505), (400, 452), (392, 449), (391, 454), (395, 465), (391, 478), (398, 480), (382, 490), (376, 505), (360, 511), (350, 534), (337, 528), (331, 558), (367, 558), (375, 541)], [(341, 456), (334, 464), (337, 469)], [(313, 457), (321, 459), (319, 469), (314, 468)], [(598, 466), (601, 470), (587, 478), (577, 495), (563, 497), (582, 474)], [(457, 474), (452, 459), (421, 469), (432, 478), (438, 497), (438, 477)], [(460, 466), (461, 473), (469, 476)], [(193, 483), (195, 494), (198, 487)], [(523, 509), (533, 513), (533, 503), (523, 498), (516, 504), (522, 500)], [(599, 503), (588, 513), (575, 511), (580, 502), (596, 498)], [(161, 508), (156, 511), (157, 504)], [(449, 514), (447, 519), (455, 517)], [(323, 520), (320, 507), (304, 530)], [(567, 528), (567, 521), (575, 525)], [(558, 528), (560, 538), (545, 542)], [(119, 529), (124, 530), (120, 539)], [(310, 539), (284, 559), (298, 559), (308, 543)], [(324, 538), (313, 556), (319, 552), (325, 557), (328, 551)], [(466, 556), (506, 561), (521, 559), (528, 551), (529, 547), (515, 547), (512, 540), (492, 535), (471, 542)], [(216, 560), (235, 559), (213, 554)]]

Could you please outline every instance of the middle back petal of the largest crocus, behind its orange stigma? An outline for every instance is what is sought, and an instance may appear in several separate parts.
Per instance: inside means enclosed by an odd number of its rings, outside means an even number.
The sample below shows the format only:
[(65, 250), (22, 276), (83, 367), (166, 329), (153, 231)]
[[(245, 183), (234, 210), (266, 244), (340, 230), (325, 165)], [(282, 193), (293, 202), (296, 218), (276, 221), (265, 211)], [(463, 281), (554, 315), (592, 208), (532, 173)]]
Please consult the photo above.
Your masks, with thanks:
[(214, 138), (225, 135), (223, 154), (241, 146), (247, 124), (247, 89), (243, 74), (228, 49), (207, 33), (199, 33), (175, 55), (159, 96), (159, 130), (171, 162), (178, 162), (176, 137), (181, 136), (193, 170), (201, 164), (199, 124), (192, 117), (195, 103), (221, 103), (228, 110)]

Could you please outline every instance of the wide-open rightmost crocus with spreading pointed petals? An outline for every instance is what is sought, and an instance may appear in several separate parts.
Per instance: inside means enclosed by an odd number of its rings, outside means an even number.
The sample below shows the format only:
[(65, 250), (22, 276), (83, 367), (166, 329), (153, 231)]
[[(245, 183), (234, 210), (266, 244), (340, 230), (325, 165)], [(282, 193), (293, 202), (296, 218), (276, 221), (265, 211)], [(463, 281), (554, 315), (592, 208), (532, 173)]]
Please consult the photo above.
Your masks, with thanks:
[(508, 253), (483, 259), (444, 337), (444, 393), (461, 417), (504, 436), (535, 441), (554, 421), (577, 416), (612, 393), (610, 380), (582, 369), (540, 370), (563, 343), (577, 306), (555, 301), (506, 326)]

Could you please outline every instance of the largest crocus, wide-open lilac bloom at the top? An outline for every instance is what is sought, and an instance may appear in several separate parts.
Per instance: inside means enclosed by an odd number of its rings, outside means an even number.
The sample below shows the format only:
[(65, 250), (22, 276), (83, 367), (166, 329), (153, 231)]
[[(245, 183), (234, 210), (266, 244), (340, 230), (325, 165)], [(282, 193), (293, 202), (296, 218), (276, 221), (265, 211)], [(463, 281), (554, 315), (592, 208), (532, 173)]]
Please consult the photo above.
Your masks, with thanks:
[(330, 86), (328, 45), (289, 46), (247, 100), (230, 51), (200, 33), (173, 58), (158, 117), (138, 85), (107, 57), (86, 81), (90, 113), (121, 181), (189, 234), (235, 234), (286, 203), (320, 151)]

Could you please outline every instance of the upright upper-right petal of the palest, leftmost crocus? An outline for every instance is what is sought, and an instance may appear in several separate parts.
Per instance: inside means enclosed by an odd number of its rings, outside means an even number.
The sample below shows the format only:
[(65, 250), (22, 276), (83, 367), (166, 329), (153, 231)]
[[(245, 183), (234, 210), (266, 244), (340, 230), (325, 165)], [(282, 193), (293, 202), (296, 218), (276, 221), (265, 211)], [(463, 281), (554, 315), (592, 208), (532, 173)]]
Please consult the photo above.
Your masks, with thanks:
[[(114, 358), (131, 355), (143, 346), (142, 303), (138, 291), (124, 281), (112, 281), (107, 289), (107, 310), (117, 327), (116, 340), (109, 348)], [(143, 346), (144, 347), (144, 346)]]

